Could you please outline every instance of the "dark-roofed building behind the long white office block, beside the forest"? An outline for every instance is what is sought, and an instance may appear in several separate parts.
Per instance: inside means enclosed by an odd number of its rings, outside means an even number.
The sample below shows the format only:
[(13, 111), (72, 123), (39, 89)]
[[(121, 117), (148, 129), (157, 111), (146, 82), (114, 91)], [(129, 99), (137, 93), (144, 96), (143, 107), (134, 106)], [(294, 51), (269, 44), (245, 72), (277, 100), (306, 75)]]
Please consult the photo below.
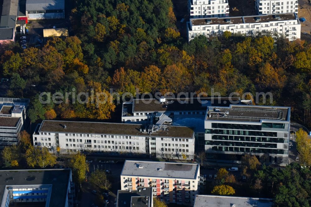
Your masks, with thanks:
[(249, 104), (239, 98), (133, 99), (122, 105), (122, 123), (172, 124), (172, 117), (205, 116), (208, 106)]

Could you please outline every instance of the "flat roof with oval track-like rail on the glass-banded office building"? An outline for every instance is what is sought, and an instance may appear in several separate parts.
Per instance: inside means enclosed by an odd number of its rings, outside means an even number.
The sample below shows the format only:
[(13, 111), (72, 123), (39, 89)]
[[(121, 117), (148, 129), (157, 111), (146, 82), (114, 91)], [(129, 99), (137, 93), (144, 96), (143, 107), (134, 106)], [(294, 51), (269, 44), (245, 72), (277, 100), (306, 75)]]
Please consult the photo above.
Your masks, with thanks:
[(260, 122), (261, 120), (289, 121), (289, 107), (241, 106), (209, 107), (207, 120)]

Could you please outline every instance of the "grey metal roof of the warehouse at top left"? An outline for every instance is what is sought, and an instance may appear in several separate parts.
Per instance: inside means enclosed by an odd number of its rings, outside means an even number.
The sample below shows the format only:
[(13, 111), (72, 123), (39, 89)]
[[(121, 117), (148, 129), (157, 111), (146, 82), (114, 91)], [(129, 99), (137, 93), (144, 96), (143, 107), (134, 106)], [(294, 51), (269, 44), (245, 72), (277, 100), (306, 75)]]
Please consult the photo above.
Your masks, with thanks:
[(26, 11), (65, 9), (65, 0), (27, 0)]

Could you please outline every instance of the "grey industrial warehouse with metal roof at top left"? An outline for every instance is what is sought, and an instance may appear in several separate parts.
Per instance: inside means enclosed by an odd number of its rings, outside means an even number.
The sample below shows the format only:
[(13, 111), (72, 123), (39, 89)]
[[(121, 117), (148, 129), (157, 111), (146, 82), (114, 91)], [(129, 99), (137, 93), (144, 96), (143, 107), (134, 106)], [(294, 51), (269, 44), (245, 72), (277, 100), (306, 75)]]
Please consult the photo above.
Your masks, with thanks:
[(26, 16), (29, 20), (64, 19), (65, 0), (27, 0)]

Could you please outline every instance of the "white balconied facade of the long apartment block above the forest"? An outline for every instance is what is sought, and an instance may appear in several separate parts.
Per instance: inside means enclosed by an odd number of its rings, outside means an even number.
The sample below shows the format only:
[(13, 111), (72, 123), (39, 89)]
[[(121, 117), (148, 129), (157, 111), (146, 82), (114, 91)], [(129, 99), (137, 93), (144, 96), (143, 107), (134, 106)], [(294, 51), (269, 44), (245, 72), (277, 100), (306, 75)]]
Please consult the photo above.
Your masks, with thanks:
[[(233, 17), (231, 17), (232, 19)], [(241, 18), (241, 17), (237, 17)], [(264, 17), (261, 17), (264, 18)], [(188, 28), (188, 39), (192, 40), (199, 35), (223, 34), (225, 31), (229, 31), (232, 34), (241, 34), (246, 36), (256, 36), (261, 34), (270, 34), (272, 37), (284, 36), (289, 41), (300, 39), (301, 25), (299, 20), (276, 20), (276, 21), (258, 21), (252, 23), (242, 24), (206, 24), (206, 25), (192, 25), (192, 21), (189, 22), (190, 28)]]

